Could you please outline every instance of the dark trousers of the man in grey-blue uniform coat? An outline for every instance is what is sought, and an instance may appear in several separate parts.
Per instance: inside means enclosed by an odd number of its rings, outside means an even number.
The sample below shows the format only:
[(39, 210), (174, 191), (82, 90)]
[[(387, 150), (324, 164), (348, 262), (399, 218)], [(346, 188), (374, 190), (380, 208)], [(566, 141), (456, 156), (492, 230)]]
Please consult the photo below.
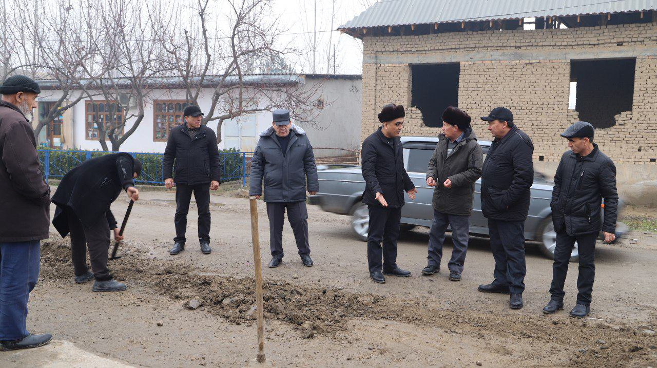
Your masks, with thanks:
[(267, 202), (269, 216), (269, 248), (272, 256), (284, 256), (283, 253), (283, 223), (285, 210), (288, 221), (294, 232), (296, 247), (299, 254), (310, 254), (308, 245), (308, 210), (306, 202)]

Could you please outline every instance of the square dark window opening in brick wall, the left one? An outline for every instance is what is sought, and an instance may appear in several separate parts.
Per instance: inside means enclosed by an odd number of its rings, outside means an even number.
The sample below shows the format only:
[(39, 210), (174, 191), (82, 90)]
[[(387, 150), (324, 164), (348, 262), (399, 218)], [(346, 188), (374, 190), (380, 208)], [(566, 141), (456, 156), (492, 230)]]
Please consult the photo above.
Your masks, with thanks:
[(411, 66), (411, 106), (422, 112), (422, 122), (428, 127), (442, 127), (447, 106), (459, 106), (459, 76), (461, 65), (421, 64)]

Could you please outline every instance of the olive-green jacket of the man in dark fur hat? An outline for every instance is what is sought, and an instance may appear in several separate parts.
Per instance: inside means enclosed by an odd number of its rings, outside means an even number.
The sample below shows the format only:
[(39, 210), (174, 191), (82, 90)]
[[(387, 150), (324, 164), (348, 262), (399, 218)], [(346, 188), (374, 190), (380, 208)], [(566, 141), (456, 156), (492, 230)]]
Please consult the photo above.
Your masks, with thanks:
[[(432, 207), (443, 214), (470, 216), (474, 198), (474, 183), (482, 176), (484, 156), (482, 147), (468, 129), (466, 138), (459, 142), (447, 156), (447, 142), (444, 133), (438, 135), (436, 150), (429, 160), (426, 177), (436, 181)], [(445, 188), (445, 180), (451, 180), (452, 186)]]

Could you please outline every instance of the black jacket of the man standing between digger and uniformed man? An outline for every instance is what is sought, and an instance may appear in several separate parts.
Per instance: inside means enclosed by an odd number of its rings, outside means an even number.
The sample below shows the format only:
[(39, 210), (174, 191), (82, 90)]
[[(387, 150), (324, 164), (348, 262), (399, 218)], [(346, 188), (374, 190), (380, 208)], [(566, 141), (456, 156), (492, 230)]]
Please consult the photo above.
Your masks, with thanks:
[(200, 126), (192, 139), (185, 124), (170, 131), (162, 164), (164, 179), (173, 177), (175, 183), (188, 185), (221, 181), (221, 158), (214, 130)]

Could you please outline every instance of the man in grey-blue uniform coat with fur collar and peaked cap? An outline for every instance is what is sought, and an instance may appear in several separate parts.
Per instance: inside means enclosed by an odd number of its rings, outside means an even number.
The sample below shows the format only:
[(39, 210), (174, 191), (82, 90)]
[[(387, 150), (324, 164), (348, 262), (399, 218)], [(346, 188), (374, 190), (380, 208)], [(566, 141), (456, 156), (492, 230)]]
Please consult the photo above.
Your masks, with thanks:
[(274, 110), (271, 127), (260, 134), (251, 160), (250, 196), (260, 198), (263, 181), (269, 216), (269, 267), (278, 267), (283, 262), (286, 211), (299, 256), (306, 267), (311, 267), (306, 188), (311, 195), (319, 191), (317, 166), (306, 132), (292, 124), (290, 112), (285, 109)]

